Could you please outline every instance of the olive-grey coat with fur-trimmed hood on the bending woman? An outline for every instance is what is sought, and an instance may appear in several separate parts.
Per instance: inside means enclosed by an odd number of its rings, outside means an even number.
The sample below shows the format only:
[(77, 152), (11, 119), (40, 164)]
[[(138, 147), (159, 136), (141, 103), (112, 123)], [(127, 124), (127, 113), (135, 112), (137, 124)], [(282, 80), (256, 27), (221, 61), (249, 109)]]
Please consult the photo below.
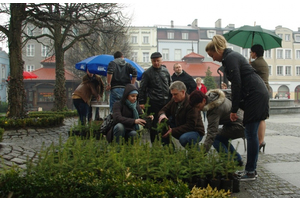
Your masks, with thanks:
[[(238, 119), (236, 121), (230, 120), (231, 101), (225, 97), (225, 93), (220, 89), (213, 89), (207, 92), (207, 102), (203, 111), (207, 111), (207, 136), (204, 142), (204, 147), (208, 151), (213, 144), (215, 137), (218, 134), (229, 138), (236, 139), (244, 137), (243, 127), (243, 111), (238, 110)], [(219, 130), (219, 125), (223, 125), (223, 131)], [(224, 130), (232, 130), (233, 128), (226, 129), (226, 127), (236, 126), (236, 131), (228, 132)]]

